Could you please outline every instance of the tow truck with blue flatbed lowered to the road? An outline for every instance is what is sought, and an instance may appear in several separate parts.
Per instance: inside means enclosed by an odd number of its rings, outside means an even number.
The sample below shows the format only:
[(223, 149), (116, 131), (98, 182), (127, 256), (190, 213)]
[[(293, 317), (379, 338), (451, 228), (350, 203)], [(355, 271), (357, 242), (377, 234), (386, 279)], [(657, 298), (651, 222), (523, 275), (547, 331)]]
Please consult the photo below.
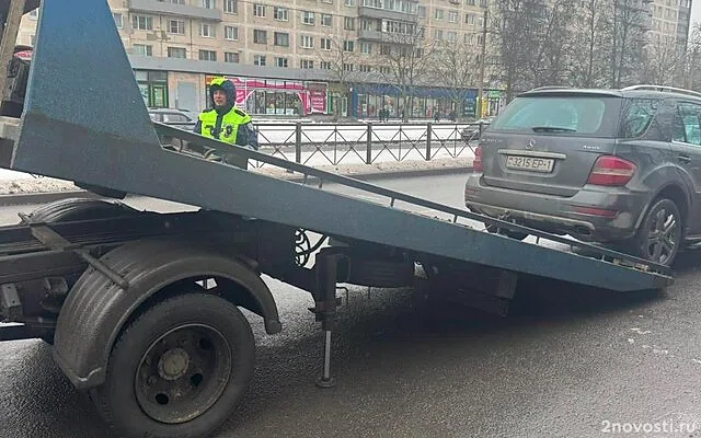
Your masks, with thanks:
[[(313, 298), (325, 334), (321, 388), (334, 384), (338, 285), (421, 279), (428, 293), (455, 285), (467, 302), (504, 314), (527, 277), (624, 292), (674, 280), (645, 260), (154, 123), (105, 0), (0, 2), (0, 65), (11, 64), (22, 13), (37, 5), (26, 90), (2, 78), (3, 105), (12, 105), (0, 118), (0, 165), (100, 197), (49, 203), (0, 227), (0, 341), (49, 343), (60, 370), (119, 436), (204, 437), (230, 416), (255, 365), (241, 309), (269, 335), (284, 330), (263, 275)], [(250, 161), (301, 178), (253, 172)], [(196, 209), (137, 210), (127, 195)]]

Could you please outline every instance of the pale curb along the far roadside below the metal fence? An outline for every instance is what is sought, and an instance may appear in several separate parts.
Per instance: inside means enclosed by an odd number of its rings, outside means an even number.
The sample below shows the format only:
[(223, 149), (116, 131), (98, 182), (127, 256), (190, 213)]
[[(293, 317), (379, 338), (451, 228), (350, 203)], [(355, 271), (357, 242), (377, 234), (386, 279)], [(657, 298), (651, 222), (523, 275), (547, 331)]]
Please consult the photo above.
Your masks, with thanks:
[[(342, 176), (348, 176), (360, 181), (381, 181), (392, 180), (412, 176), (437, 176), (437, 175), (450, 175), (464, 173), (466, 176), (472, 171), (472, 166), (457, 168), (448, 166), (444, 169), (420, 169), (414, 171), (390, 171), (390, 172), (372, 172), (372, 173), (359, 173), (359, 174), (341, 174)], [(284, 181), (299, 183), (303, 181), (302, 176), (291, 176)], [(315, 176), (310, 176), (307, 181), (318, 181)], [(141, 195), (127, 195), (129, 197), (139, 197)], [(38, 205), (53, 203), (60, 199), (83, 197), (102, 199), (103, 196), (96, 195), (92, 192), (77, 189), (65, 192), (38, 192), (38, 193), (22, 193), (16, 195), (0, 195), (0, 208), (5, 206), (19, 206), (19, 205)]]

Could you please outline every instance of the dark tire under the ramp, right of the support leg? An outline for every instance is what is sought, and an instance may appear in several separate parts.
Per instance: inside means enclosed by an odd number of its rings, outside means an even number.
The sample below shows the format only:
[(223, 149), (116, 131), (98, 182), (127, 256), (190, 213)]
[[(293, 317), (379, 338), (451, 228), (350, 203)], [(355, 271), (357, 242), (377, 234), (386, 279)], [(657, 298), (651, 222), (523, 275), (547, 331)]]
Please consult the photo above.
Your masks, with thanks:
[(347, 283), (386, 288), (405, 287), (413, 284), (414, 272), (413, 262), (353, 257)]

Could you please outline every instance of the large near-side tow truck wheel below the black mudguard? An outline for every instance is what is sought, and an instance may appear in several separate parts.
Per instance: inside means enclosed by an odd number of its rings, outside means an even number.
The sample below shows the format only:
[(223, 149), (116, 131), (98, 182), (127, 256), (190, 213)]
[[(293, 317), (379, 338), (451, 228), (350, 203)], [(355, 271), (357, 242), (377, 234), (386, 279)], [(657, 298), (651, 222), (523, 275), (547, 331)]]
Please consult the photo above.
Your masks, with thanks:
[(229, 301), (193, 288), (131, 322), (91, 399), (124, 437), (206, 437), (235, 408), (252, 376), (249, 322)]

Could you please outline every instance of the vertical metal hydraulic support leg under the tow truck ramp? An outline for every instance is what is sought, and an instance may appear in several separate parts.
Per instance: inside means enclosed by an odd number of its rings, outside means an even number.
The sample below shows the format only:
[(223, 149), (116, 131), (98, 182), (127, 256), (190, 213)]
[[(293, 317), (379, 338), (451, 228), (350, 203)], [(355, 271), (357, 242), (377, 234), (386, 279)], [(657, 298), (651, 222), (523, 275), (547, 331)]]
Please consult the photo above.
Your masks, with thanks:
[(317, 290), (314, 293), (317, 321), (321, 321), (321, 330), (324, 331), (324, 364), (323, 373), (317, 380), (320, 388), (332, 388), (335, 379), (331, 376), (331, 332), (336, 314), (336, 279), (340, 254), (329, 251), (320, 251), (317, 255)]

